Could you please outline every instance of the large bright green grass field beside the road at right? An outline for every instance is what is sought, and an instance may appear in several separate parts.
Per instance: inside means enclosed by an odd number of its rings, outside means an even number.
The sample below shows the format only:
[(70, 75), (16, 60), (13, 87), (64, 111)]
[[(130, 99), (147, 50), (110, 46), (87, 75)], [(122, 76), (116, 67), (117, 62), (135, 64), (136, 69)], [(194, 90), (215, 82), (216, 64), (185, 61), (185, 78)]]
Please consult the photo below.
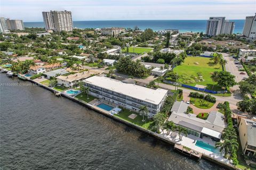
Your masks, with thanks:
[[(210, 58), (206, 57), (187, 57), (185, 62), (177, 66), (173, 70), (180, 75), (179, 82), (187, 84), (189, 86), (195, 86), (200, 84), (206, 86), (209, 90), (222, 90), (221, 87), (213, 87), (214, 82), (211, 79), (211, 74), (214, 71), (222, 71), (219, 64), (214, 65), (211, 63)], [(202, 79), (200, 80), (198, 72), (202, 74)], [(198, 80), (196, 82), (196, 80)]]

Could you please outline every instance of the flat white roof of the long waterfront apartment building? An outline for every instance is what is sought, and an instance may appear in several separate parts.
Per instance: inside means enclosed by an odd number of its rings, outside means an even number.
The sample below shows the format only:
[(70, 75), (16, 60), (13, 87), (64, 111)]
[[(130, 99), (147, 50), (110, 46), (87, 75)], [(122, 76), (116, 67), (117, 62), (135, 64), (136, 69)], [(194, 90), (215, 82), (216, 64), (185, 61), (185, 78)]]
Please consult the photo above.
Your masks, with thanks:
[(93, 84), (101, 88), (105, 88), (111, 91), (118, 92), (126, 96), (130, 96), (136, 99), (147, 101), (158, 105), (163, 100), (164, 96), (167, 94), (167, 90), (164, 89), (149, 89), (146, 87), (141, 87), (135, 84), (127, 84), (122, 81), (110, 79), (107, 77), (94, 76), (84, 80), (85, 83)]

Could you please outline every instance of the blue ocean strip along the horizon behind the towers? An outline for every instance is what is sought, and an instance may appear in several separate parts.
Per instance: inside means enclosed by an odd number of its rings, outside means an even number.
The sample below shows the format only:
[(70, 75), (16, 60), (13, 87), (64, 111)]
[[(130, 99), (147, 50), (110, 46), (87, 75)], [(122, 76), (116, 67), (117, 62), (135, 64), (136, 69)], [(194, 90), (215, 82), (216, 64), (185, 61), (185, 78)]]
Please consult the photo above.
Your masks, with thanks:
[[(245, 20), (230, 20), (235, 22), (234, 33), (242, 33)], [(162, 29), (179, 29), (180, 32), (205, 32), (207, 20), (118, 20), (118, 21), (73, 21), (76, 28), (124, 27), (141, 30), (151, 28), (154, 31)], [(44, 28), (44, 22), (24, 22), (25, 27)]]

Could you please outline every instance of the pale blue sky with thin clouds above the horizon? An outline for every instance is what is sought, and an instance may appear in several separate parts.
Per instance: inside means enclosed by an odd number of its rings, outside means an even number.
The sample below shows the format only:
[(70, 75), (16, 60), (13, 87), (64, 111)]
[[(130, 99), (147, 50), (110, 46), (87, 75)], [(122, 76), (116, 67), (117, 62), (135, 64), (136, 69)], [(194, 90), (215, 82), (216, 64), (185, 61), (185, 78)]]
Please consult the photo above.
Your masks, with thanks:
[(42, 11), (72, 12), (73, 21), (245, 19), (256, 0), (0, 0), (0, 16), (43, 21)]

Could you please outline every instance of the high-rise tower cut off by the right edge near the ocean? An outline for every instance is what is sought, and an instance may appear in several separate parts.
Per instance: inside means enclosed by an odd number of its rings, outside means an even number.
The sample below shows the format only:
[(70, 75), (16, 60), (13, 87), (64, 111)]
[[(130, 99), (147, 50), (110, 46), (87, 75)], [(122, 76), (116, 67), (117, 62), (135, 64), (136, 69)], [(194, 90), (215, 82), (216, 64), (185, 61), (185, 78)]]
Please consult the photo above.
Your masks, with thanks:
[(246, 16), (243, 36), (252, 39), (256, 38), (256, 13), (254, 16)]

